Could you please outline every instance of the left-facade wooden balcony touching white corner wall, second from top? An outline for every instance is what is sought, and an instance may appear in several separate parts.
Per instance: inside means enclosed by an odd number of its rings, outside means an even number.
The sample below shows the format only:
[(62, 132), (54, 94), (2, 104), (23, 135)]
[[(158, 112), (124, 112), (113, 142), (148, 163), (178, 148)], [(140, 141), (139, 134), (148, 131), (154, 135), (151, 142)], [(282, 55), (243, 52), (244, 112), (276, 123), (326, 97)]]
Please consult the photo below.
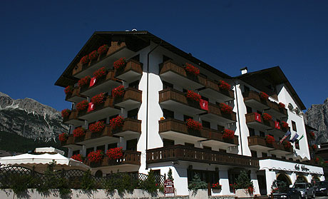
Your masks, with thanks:
[(138, 108), (141, 105), (143, 98), (143, 91), (136, 88), (126, 88), (124, 96), (122, 98), (116, 98), (114, 105), (130, 110), (132, 108)]

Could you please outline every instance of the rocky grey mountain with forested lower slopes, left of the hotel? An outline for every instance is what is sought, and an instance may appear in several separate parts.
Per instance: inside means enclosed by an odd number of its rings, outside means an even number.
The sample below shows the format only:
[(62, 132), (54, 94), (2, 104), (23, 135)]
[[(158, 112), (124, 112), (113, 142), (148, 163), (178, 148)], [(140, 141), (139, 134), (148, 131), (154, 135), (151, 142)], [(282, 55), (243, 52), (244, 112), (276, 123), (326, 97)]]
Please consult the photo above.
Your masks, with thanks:
[[(13, 99), (0, 92), (0, 149), (19, 141), (43, 146), (58, 145), (58, 134), (67, 132), (61, 113), (31, 98)], [(19, 143), (13, 143), (19, 148)], [(14, 147), (13, 146), (13, 147)], [(21, 148), (21, 146), (20, 146)]]

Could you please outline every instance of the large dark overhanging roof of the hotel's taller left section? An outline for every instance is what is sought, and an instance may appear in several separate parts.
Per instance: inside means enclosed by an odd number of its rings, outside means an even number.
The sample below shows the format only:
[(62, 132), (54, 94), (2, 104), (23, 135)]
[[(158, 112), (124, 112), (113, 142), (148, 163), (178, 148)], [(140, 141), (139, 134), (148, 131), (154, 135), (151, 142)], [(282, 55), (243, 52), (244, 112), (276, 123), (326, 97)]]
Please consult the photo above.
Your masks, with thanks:
[(81, 51), (78, 52), (76, 57), (73, 58), (73, 61), (71, 61), (66, 70), (63, 71), (55, 85), (66, 87), (76, 83), (78, 79), (74, 78), (71, 74), (73, 68), (76, 67), (76, 64), (80, 61), (80, 59), (86, 54), (91, 53), (91, 51), (98, 49), (98, 47), (103, 44), (111, 44), (111, 41), (124, 41), (128, 49), (132, 51), (139, 51), (140, 49), (145, 48), (145, 46), (149, 46), (150, 41), (153, 41), (155, 44), (160, 44), (163, 48), (168, 49), (169, 51), (172, 51), (173, 53), (176, 53), (193, 63), (198, 63), (200, 67), (203, 67), (208, 71), (221, 76), (222, 78), (231, 78), (222, 71), (219, 71), (207, 63), (200, 61), (198, 58), (193, 57), (190, 53), (186, 53), (172, 44), (163, 41), (163, 39), (150, 34), (148, 31), (96, 31), (93, 33), (91, 38), (88, 39)]

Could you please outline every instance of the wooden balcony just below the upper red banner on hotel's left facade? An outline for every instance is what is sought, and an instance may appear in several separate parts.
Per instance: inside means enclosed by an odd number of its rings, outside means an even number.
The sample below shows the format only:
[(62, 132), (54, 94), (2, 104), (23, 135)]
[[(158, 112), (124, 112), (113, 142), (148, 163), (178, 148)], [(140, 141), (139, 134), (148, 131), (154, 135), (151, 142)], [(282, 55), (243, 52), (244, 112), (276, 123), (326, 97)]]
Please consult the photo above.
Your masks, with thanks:
[(113, 88), (116, 88), (120, 86), (122, 81), (118, 80), (117, 78), (114, 78), (114, 71), (110, 70), (108, 71), (106, 78), (101, 78), (99, 80), (96, 80), (96, 83), (89, 87), (83, 86), (80, 89), (80, 93), (83, 96), (93, 97), (96, 96), (98, 93), (107, 93), (111, 92)]

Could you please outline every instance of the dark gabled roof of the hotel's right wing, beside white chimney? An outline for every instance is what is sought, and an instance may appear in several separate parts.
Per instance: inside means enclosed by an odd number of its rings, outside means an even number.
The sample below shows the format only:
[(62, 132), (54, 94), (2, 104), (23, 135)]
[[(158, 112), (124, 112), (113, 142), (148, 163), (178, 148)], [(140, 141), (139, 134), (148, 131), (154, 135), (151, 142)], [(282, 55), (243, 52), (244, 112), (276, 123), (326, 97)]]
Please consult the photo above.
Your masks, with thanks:
[(267, 82), (273, 83), (274, 85), (284, 83), (287, 86), (289, 92), (291, 93), (292, 98), (294, 98), (296, 103), (299, 105), (299, 108), (301, 108), (302, 110), (306, 109), (304, 103), (297, 95), (296, 91), (292, 87), (292, 84), (289, 83), (287, 77), (285, 76), (285, 73), (282, 72), (280, 66), (275, 66), (260, 71), (245, 73), (240, 76), (236, 76), (235, 78), (239, 78), (240, 80), (245, 81), (251, 86), (258, 88), (260, 91), (264, 91), (268, 93), (270, 93), (270, 90), (269, 88), (265, 87), (267, 86)]

